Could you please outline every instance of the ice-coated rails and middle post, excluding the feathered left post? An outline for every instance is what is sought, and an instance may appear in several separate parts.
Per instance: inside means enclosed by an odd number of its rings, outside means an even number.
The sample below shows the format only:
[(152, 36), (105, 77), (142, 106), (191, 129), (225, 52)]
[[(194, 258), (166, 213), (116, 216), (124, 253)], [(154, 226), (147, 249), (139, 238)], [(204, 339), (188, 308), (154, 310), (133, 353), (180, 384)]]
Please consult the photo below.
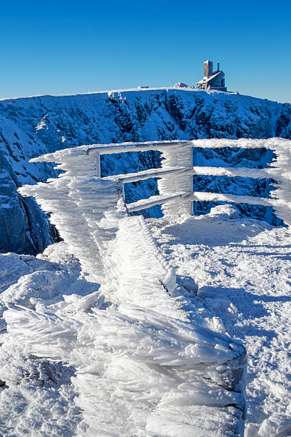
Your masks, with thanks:
[[(241, 148), (271, 149), (277, 159), (266, 169), (249, 169), (243, 167), (207, 167), (193, 166), (193, 147), (195, 148)], [(141, 211), (155, 205), (163, 205), (163, 213), (170, 215), (193, 214), (193, 201), (227, 201), (242, 204), (273, 206), (276, 213), (288, 225), (290, 221), (290, 170), (289, 151), (291, 141), (285, 139), (200, 139), (193, 141), (155, 141), (152, 143), (109, 144), (88, 146), (87, 155), (94, 154), (96, 159), (96, 176), (101, 176), (100, 155), (120, 154), (129, 151), (157, 150), (161, 152), (161, 168), (139, 171), (131, 174), (107, 176), (126, 184), (149, 178), (159, 178), (158, 196), (141, 199), (127, 205), (128, 212)], [(277, 189), (272, 191), (271, 198), (237, 196), (193, 191), (193, 175), (208, 176), (241, 176), (249, 178), (272, 178), (277, 181)]]

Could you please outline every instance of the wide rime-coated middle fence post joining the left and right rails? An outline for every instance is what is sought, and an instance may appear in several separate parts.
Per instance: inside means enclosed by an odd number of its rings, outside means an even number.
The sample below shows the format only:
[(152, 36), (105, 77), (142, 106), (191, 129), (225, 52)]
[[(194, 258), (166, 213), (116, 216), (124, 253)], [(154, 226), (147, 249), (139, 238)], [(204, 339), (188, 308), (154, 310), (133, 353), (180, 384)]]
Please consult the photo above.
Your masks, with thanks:
[[(193, 149), (192, 144), (175, 144), (162, 150), (162, 168), (165, 170), (173, 167), (185, 167), (193, 169)], [(173, 195), (179, 193), (193, 192), (193, 174), (181, 172), (169, 174), (158, 180), (160, 195)], [(183, 214), (193, 215), (193, 200), (178, 199), (163, 204), (162, 211), (165, 216), (181, 216)]]

